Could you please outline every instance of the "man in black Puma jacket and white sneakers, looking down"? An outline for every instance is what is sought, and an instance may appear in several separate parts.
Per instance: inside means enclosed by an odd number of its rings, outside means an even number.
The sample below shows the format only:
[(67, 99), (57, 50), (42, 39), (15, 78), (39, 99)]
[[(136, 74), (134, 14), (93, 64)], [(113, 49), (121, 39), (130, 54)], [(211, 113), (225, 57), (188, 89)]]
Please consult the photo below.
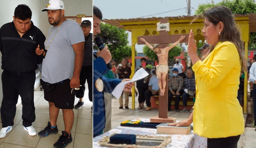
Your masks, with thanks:
[(22, 100), (22, 124), (30, 136), (36, 135), (32, 126), (35, 121), (34, 83), (37, 64), (42, 63), (40, 53), (44, 49), (45, 36), (31, 21), (32, 12), (24, 4), (15, 8), (13, 22), (0, 28), (0, 51), (2, 53), (1, 106), (2, 129), (0, 138), (12, 130), (16, 103)]

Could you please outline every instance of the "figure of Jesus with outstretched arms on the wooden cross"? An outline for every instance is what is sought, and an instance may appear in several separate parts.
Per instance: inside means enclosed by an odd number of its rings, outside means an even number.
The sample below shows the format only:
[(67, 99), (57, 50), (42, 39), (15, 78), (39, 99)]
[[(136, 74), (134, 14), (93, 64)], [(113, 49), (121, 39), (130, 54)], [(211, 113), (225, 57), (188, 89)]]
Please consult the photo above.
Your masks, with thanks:
[(168, 53), (169, 50), (178, 45), (180, 41), (182, 41), (185, 36), (181, 36), (178, 41), (173, 43), (170, 46), (165, 48), (161, 48), (158, 44), (150, 45), (144, 38), (140, 38), (140, 41), (144, 42), (146, 46), (148, 46), (151, 50), (153, 50), (158, 57), (158, 65), (156, 66), (156, 76), (158, 78), (158, 85), (160, 89), (160, 96), (164, 96), (165, 87), (166, 87), (166, 76), (168, 74)]

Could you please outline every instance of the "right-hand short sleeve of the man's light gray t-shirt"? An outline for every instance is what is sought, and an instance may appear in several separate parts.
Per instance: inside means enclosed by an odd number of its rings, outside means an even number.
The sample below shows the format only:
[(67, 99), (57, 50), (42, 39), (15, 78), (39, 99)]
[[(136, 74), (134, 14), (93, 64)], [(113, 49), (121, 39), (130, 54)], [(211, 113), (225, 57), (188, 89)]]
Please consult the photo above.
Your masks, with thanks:
[(84, 41), (84, 32), (78, 23), (74, 22), (72, 26), (69, 26), (68, 39), (70, 45)]

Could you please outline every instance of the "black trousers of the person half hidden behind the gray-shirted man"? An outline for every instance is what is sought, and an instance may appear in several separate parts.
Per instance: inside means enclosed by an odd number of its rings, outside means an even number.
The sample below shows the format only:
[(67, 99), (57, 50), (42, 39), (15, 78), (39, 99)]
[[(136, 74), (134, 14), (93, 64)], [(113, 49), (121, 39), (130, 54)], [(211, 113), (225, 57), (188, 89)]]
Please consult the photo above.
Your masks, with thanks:
[(88, 89), (89, 89), (89, 100), (92, 102), (92, 65), (90, 66), (82, 66), (81, 73), (80, 73), (80, 86), (79, 90), (76, 91), (76, 97), (82, 98), (84, 97), (84, 90), (85, 90), (85, 82), (87, 80)]

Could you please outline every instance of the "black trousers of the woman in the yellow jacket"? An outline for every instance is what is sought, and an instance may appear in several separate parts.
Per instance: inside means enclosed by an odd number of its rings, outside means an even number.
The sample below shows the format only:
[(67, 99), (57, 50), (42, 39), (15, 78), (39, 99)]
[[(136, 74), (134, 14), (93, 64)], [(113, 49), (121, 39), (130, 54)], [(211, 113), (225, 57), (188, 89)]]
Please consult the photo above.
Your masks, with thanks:
[(207, 138), (207, 148), (237, 148), (238, 136), (226, 138)]

